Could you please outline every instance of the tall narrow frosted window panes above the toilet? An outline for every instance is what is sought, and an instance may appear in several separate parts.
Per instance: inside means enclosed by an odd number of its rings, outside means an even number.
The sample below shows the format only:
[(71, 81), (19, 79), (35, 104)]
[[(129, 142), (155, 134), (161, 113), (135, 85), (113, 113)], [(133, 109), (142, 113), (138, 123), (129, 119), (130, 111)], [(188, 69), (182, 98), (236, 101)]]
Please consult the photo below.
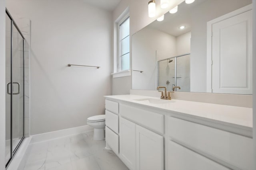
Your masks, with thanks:
[(130, 69), (130, 18), (119, 24), (118, 71)]

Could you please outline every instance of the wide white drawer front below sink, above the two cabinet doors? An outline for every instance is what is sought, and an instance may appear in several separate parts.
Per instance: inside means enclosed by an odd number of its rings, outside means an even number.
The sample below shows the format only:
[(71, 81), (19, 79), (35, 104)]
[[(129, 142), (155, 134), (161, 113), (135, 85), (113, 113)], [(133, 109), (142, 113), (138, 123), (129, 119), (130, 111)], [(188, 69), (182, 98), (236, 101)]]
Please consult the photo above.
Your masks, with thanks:
[(164, 134), (164, 115), (162, 114), (120, 104), (120, 115), (147, 129)]

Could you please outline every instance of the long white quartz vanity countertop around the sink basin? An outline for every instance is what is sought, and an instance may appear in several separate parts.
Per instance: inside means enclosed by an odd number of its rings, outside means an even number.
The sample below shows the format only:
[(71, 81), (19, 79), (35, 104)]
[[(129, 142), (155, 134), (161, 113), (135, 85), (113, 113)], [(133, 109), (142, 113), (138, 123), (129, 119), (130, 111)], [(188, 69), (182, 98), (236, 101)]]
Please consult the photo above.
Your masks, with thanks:
[[(165, 111), (175, 111), (188, 115), (194, 115), (210, 120), (221, 121), (224, 123), (232, 123), (244, 127), (252, 128), (252, 108), (227, 106), (220, 104), (210, 104), (202, 102), (191, 102), (186, 100), (169, 100), (163, 104), (152, 104), (145, 101), (137, 101), (138, 99), (159, 99), (149, 96), (137, 95), (116, 95), (104, 96), (107, 99), (120, 100), (125, 102), (132, 102), (144, 106), (151, 106)], [(168, 101), (168, 100), (164, 100)]]

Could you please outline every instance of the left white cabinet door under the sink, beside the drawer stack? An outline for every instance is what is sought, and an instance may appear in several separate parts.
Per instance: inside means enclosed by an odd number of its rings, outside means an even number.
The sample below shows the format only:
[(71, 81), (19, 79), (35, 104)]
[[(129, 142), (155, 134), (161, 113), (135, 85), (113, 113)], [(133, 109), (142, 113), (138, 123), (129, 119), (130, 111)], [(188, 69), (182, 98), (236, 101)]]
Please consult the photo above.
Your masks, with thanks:
[(119, 119), (119, 153), (130, 170), (136, 168), (136, 125), (122, 117)]

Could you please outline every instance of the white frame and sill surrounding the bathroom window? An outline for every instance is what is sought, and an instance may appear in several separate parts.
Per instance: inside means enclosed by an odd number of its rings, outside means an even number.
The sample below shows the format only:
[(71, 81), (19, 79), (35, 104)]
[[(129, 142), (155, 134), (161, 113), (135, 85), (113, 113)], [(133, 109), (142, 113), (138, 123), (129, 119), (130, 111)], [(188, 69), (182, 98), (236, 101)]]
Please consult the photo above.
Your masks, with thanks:
[[(130, 66), (128, 70), (121, 70), (121, 50), (120, 50), (120, 25), (130, 18), (130, 15), (127, 11), (118, 18), (115, 22), (114, 29), (114, 73), (112, 73), (113, 78), (131, 76)], [(129, 34), (130, 36), (130, 34)], [(116, 42), (115, 42), (116, 41)], [(131, 48), (130, 48), (131, 49)], [(129, 50), (130, 53), (130, 50)], [(130, 63), (130, 62), (129, 62)], [(131, 65), (131, 64), (129, 64)]]

